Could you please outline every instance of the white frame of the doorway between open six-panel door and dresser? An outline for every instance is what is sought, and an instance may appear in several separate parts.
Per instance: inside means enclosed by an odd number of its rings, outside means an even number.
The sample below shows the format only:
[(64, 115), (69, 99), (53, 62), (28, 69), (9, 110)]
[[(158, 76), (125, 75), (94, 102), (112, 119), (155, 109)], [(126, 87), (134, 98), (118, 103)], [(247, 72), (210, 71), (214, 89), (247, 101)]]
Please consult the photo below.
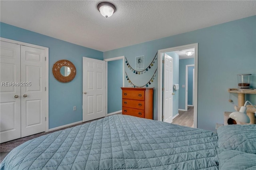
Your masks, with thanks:
[(120, 111), (116, 111), (114, 113), (108, 114), (108, 61), (114, 61), (118, 59), (123, 60), (123, 87), (124, 87), (124, 55), (120, 57), (104, 59), (104, 61), (106, 61), (106, 116), (110, 116), (110, 115), (114, 115), (116, 113), (122, 112), (122, 110), (120, 110)]

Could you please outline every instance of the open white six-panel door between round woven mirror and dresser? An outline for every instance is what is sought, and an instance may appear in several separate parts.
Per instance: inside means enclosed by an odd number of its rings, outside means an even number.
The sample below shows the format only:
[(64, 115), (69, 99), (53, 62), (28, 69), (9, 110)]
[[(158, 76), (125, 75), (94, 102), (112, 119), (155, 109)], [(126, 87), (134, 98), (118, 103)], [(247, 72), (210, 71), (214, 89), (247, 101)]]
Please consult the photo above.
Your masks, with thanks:
[(105, 117), (106, 61), (83, 57), (83, 122)]

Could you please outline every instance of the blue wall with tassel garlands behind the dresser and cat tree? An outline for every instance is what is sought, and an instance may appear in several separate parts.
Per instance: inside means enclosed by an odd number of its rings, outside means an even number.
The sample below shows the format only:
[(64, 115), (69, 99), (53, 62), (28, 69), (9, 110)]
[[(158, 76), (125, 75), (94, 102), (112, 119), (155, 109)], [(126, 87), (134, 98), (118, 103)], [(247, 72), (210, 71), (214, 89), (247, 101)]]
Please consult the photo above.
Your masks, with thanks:
[[(233, 94), (234, 103), (229, 103), (227, 91), (237, 87), (236, 74), (253, 74), (251, 87), (256, 88), (256, 16), (106, 51), (104, 59), (124, 55), (134, 67), (135, 57), (145, 55), (146, 66), (159, 49), (191, 43), (198, 43), (198, 128), (215, 130), (216, 123), (224, 122), (223, 112), (234, 111), (237, 105), (237, 95)], [(126, 65), (124, 68), (134, 83), (142, 85), (156, 67), (143, 76), (135, 75)], [(124, 85), (128, 87), (128, 81)], [(154, 119), (157, 119), (157, 81), (150, 87), (155, 87)], [(250, 95), (249, 99), (256, 103), (256, 95)]]

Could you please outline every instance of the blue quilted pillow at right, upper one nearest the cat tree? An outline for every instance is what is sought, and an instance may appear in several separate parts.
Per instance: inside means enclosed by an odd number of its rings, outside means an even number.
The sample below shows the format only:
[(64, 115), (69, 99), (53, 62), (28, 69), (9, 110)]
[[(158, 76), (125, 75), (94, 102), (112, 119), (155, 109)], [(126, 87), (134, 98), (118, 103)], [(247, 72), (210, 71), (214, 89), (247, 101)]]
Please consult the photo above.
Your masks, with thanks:
[(256, 154), (256, 125), (226, 125), (217, 132), (219, 148)]

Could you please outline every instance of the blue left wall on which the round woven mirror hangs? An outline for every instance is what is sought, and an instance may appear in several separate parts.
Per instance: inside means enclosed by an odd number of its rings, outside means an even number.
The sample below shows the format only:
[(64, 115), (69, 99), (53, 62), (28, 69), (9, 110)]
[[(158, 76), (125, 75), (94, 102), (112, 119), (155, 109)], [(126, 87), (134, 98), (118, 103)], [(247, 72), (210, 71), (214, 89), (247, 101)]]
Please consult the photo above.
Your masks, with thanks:
[[(0, 37), (49, 48), (49, 128), (82, 121), (82, 57), (102, 60), (103, 52), (2, 22)], [(52, 74), (52, 66), (60, 59), (67, 59), (76, 67), (76, 77), (69, 83), (60, 83)]]

